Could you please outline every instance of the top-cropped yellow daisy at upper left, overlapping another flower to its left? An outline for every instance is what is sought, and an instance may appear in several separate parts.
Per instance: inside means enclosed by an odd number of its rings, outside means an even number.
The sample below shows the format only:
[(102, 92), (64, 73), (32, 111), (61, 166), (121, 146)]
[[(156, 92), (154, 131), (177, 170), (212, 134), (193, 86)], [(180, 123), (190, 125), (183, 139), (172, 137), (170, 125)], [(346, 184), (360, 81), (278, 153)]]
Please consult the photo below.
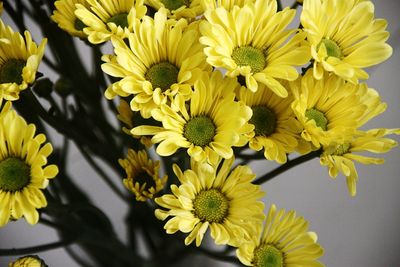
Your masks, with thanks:
[(106, 42), (111, 36), (126, 37), (135, 19), (141, 19), (147, 11), (143, 0), (86, 0), (86, 3), (75, 5), (75, 15), (86, 25), (83, 32), (92, 44)]

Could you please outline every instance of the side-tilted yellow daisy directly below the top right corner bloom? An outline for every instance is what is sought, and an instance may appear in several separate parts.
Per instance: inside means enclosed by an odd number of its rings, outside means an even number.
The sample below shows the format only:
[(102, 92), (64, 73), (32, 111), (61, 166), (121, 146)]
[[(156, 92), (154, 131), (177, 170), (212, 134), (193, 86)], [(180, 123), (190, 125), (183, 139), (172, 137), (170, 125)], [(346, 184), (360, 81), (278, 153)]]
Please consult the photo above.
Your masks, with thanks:
[(346, 140), (372, 111), (382, 112), (386, 107), (374, 89), (345, 82), (334, 74), (316, 80), (309, 70), (291, 88), (292, 109), (304, 127), (301, 136), (316, 148)]

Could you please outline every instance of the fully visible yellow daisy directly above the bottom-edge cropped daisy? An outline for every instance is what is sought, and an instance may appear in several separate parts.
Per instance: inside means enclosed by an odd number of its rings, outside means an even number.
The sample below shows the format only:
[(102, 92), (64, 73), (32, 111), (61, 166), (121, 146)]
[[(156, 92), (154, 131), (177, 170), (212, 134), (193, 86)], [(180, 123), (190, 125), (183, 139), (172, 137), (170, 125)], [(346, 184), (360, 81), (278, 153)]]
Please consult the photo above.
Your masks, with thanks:
[(224, 160), (210, 171), (192, 161), (191, 169), (185, 172), (174, 164), (181, 185), (171, 185), (172, 194), (156, 198), (164, 208), (155, 211), (156, 217), (173, 217), (164, 226), (168, 234), (189, 233), (185, 244), (196, 240), (200, 246), (210, 228), (216, 244), (238, 246), (261, 228), (264, 204), (258, 199), (264, 193), (251, 183), (256, 177), (251, 169), (238, 166), (231, 171), (233, 162), (234, 157)]

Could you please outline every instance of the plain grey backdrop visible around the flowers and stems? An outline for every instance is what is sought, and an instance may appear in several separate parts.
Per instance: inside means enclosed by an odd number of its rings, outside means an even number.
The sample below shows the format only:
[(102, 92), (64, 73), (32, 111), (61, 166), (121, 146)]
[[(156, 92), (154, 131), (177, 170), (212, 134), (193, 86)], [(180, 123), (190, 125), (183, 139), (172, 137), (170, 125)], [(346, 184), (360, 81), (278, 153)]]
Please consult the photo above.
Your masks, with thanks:
[[(288, 3), (289, 1), (284, 1)], [(291, 3), (291, 2), (290, 2)], [(393, 56), (383, 64), (370, 68), (370, 87), (379, 91), (387, 102), (387, 111), (371, 121), (367, 128), (400, 127), (400, 2), (375, 1), (377, 18), (386, 18), (394, 48)], [(3, 20), (11, 24), (3, 14)], [(14, 28), (15, 29), (15, 28)], [(36, 40), (40, 34), (33, 28)], [(78, 41), (79, 42), (79, 41)], [(85, 48), (82, 48), (84, 54)], [(42, 64), (41, 71), (47, 73)], [(55, 143), (59, 136), (54, 135)], [(395, 137), (399, 140), (398, 137)], [(294, 209), (310, 221), (310, 229), (318, 233), (319, 243), (325, 248), (321, 261), (330, 267), (399, 267), (400, 266), (400, 149), (383, 155), (384, 165), (357, 165), (359, 172), (358, 194), (352, 198), (347, 193), (345, 178), (329, 178), (327, 169), (317, 159), (296, 167), (263, 186), (265, 204), (275, 203), (279, 208)], [(85, 188), (94, 203), (112, 219), (115, 229), (124, 240), (123, 219), (126, 206), (93, 173), (76, 149), (69, 155), (70, 172)], [(251, 164), (253, 170), (263, 174), (276, 167), (266, 161)], [(113, 175), (113, 174), (111, 174)], [(119, 179), (113, 175), (115, 180)], [(122, 188), (122, 186), (121, 186)], [(267, 208), (266, 208), (267, 211)], [(0, 248), (27, 247), (58, 240), (56, 232), (42, 225), (30, 226), (24, 220), (9, 223), (0, 229)], [(72, 246), (74, 247), (74, 246)], [(47, 264), (58, 267), (78, 266), (63, 249), (40, 256)], [(1, 257), (0, 267), (16, 257)], [(203, 266), (229, 266), (210, 262)]]

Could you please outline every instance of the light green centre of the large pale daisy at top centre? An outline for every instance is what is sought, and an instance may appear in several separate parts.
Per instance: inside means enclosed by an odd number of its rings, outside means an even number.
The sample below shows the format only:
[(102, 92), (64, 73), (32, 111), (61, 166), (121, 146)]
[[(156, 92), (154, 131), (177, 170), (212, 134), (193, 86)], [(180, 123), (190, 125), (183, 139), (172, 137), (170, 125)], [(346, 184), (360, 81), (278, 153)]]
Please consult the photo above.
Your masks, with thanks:
[(252, 73), (262, 71), (266, 64), (263, 51), (251, 46), (235, 48), (232, 58), (238, 66), (250, 66)]

